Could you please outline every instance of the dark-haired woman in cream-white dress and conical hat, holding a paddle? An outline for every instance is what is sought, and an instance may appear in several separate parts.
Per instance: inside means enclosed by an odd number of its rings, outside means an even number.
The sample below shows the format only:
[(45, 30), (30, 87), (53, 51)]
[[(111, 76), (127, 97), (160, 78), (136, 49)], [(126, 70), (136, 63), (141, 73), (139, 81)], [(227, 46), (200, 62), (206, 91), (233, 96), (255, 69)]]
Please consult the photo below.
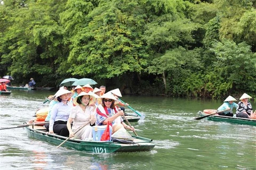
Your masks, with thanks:
[[(92, 92), (86, 93), (81, 92), (74, 100), (73, 104), (76, 105), (71, 109), (71, 113), (68, 118), (67, 128), (69, 131), (69, 137), (81, 139), (81, 140), (89, 140), (92, 138), (92, 124), (95, 123), (95, 114), (96, 108), (95, 106), (89, 106), (92, 98), (95, 98), (95, 94)], [(73, 122), (73, 126), (71, 128), (71, 123)], [(80, 127), (84, 126), (83, 129), (79, 130), (76, 134), (74, 132)], [(91, 124), (91, 125), (90, 125)]]

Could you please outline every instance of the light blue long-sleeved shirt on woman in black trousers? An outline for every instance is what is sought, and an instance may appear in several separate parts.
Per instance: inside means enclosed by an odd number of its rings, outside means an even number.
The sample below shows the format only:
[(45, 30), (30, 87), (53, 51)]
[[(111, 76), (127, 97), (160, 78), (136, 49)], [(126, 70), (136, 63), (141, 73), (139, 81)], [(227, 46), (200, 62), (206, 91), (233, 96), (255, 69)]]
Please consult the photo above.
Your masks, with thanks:
[(49, 131), (53, 131), (53, 125), (56, 121), (68, 121), (69, 114), (71, 112), (72, 103), (70, 101), (67, 104), (59, 102), (52, 107), (51, 118), (49, 122)]

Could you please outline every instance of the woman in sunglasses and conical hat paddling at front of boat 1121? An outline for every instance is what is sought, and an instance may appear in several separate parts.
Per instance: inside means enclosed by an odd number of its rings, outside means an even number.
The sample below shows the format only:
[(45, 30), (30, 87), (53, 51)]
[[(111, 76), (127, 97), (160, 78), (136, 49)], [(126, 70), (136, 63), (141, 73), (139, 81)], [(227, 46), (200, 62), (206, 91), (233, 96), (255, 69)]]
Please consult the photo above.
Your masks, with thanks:
[(134, 128), (126, 125), (121, 116), (124, 115), (123, 111), (118, 111), (118, 108), (115, 107), (116, 98), (111, 94), (111, 92), (107, 92), (106, 94), (101, 96), (102, 104), (97, 108), (97, 120), (96, 125), (106, 125), (108, 122), (111, 123), (113, 127), (113, 132), (115, 133), (117, 130), (121, 128), (129, 129), (134, 131)]

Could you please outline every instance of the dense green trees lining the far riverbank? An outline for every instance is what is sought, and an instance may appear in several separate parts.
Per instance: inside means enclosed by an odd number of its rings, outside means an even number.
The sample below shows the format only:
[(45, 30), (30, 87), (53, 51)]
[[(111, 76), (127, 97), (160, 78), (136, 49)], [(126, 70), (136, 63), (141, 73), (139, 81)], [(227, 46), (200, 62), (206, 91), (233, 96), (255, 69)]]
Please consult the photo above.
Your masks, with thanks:
[(256, 97), (255, 0), (0, 1), (0, 75), (123, 94)]

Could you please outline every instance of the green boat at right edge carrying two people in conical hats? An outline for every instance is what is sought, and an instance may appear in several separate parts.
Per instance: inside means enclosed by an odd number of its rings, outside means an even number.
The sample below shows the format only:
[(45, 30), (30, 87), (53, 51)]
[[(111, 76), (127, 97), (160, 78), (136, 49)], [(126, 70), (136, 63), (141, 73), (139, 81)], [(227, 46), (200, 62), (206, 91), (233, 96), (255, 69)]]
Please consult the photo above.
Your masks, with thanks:
[[(207, 114), (209, 113), (204, 113), (199, 111), (199, 116), (206, 116)], [(245, 125), (256, 126), (256, 120), (251, 118), (211, 115), (211, 116), (205, 117), (205, 119), (210, 121), (229, 122), (229, 123), (235, 123), (235, 124), (245, 124)]]

